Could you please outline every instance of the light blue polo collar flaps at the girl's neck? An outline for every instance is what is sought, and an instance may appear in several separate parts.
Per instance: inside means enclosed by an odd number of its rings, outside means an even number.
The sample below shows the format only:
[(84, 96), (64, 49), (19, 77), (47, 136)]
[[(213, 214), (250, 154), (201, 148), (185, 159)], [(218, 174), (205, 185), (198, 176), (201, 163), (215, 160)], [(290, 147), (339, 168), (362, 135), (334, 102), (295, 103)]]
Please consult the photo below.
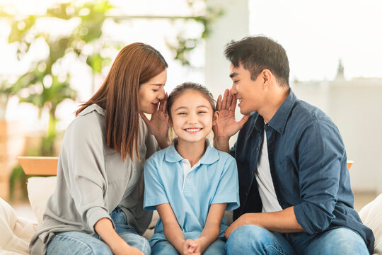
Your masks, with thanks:
[[(166, 149), (165, 159), (167, 162), (180, 162), (183, 160), (183, 157), (176, 151), (174, 143), (176, 139), (173, 140), (173, 144)], [(200, 158), (200, 164), (212, 164), (219, 159), (219, 152), (217, 149), (212, 147), (209, 143), (209, 140), (206, 139), (207, 149), (204, 152), (202, 158)]]

